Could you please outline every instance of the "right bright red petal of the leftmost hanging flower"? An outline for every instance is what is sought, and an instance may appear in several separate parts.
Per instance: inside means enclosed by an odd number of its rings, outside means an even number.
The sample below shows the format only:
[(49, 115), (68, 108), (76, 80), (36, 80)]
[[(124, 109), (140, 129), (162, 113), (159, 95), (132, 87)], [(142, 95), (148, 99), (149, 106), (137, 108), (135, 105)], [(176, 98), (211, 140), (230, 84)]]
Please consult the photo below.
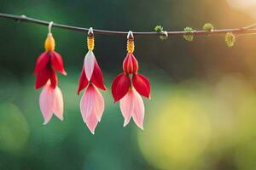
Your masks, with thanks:
[(67, 72), (64, 70), (63, 67), (63, 60), (61, 58), (61, 54), (56, 53), (55, 51), (49, 52), (50, 55), (50, 63), (52, 67), (56, 70), (61, 72), (63, 75), (67, 75)]

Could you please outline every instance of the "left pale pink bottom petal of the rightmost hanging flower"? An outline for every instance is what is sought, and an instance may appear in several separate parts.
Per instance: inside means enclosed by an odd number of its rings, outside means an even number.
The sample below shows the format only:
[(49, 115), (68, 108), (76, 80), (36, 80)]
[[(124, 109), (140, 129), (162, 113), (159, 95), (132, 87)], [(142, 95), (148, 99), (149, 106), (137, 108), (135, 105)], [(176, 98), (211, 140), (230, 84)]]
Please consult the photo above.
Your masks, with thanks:
[(125, 95), (124, 98), (120, 99), (120, 109), (122, 115), (125, 118), (124, 127), (130, 122), (131, 120), (131, 113), (133, 111), (133, 93), (131, 90)]

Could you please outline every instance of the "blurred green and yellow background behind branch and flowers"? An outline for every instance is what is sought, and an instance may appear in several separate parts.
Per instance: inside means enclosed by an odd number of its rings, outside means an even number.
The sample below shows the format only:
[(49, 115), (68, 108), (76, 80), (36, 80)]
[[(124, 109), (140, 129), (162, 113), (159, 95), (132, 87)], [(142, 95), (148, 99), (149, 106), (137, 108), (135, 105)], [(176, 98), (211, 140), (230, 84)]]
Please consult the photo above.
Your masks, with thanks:
[[(26, 14), (72, 26), (114, 31), (168, 31), (247, 26), (254, 0), (0, 0), (0, 12)], [(256, 36), (135, 37), (140, 72), (152, 85), (144, 130), (123, 127), (110, 86), (122, 71), (126, 39), (96, 35), (96, 58), (107, 92), (92, 135), (82, 121), (76, 89), (86, 33), (53, 28), (67, 77), (59, 76), (64, 122), (43, 126), (32, 72), (44, 51), (47, 26), (0, 20), (0, 169), (256, 169)]]

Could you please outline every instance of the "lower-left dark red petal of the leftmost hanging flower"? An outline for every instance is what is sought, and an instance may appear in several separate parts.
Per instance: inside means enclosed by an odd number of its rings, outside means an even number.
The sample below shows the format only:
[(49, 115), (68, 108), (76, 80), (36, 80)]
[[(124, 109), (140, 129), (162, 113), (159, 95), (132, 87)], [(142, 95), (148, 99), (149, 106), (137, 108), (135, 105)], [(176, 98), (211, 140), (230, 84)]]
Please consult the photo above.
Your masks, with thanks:
[(36, 89), (42, 88), (46, 84), (46, 82), (49, 80), (50, 74), (51, 74), (51, 69), (49, 67), (45, 67), (44, 69), (41, 69), (37, 75), (35, 88)]

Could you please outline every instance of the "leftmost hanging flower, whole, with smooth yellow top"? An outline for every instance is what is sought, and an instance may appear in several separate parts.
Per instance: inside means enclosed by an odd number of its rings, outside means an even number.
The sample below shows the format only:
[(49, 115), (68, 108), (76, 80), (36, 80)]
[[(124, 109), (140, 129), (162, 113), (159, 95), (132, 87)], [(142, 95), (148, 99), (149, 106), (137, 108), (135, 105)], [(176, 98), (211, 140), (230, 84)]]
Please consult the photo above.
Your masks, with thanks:
[(39, 105), (44, 116), (44, 124), (47, 124), (53, 115), (63, 121), (63, 97), (58, 88), (58, 80), (55, 71), (67, 75), (64, 70), (61, 54), (55, 52), (55, 39), (50, 32), (44, 43), (45, 52), (36, 62), (34, 74), (37, 77), (35, 88), (43, 88)]

